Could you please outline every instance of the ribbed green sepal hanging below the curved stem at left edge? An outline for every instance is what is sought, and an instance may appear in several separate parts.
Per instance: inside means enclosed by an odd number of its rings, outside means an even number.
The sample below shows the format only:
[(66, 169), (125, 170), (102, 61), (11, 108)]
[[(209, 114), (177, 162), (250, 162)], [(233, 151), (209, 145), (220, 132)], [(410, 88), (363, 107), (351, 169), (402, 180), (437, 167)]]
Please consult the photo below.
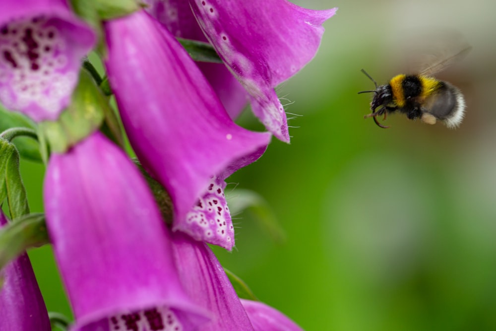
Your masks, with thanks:
[(12, 219), (29, 213), (26, 189), (19, 172), (19, 153), (4, 138), (0, 138), (0, 188), (0, 204), (7, 198)]

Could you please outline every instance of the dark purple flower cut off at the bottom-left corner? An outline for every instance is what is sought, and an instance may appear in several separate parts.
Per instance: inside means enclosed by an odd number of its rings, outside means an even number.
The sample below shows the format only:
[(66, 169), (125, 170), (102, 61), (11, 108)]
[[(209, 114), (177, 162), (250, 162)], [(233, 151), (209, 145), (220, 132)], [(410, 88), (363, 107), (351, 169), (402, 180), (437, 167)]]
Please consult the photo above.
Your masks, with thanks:
[[(0, 227), (5, 224), (7, 219), (0, 210)], [(52, 330), (45, 302), (26, 253), (0, 271), (0, 283), (1, 280), (0, 330)]]

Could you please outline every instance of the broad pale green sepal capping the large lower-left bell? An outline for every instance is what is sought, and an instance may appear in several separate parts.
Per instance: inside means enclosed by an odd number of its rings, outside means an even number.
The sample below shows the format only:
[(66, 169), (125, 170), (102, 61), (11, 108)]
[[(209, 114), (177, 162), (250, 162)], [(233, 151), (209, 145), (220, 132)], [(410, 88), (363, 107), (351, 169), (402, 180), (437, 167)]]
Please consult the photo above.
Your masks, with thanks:
[(64, 153), (98, 130), (106, 112), (112, 112), (107, 98), (86, 69), (81, 69), (70, 105), (57, 121), (40, 122), (39, 135), (44, 136), (52, 152)]

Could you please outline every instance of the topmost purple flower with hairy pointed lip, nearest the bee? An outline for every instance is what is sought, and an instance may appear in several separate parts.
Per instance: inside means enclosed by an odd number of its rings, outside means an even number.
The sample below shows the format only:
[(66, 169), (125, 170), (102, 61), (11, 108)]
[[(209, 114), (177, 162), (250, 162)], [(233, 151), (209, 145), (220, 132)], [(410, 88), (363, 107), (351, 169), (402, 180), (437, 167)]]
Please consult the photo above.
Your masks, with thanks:
[(286, 114), (273, 87), (314, 57), (322, 23), (336, 8), (310, 10), (286, 0), (189, 0), (210, 43), (251, 95), (254, 114), (289, 141)]

